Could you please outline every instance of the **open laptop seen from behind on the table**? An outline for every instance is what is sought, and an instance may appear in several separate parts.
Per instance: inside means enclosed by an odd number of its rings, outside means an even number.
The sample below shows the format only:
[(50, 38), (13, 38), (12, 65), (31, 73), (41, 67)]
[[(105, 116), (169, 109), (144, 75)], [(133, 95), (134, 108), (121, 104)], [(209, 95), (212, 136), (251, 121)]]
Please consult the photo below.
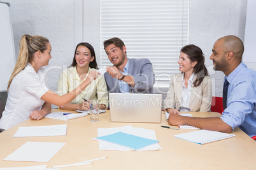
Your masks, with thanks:
[(111, 122), (161, 122), (161, 94), (109, 93)]

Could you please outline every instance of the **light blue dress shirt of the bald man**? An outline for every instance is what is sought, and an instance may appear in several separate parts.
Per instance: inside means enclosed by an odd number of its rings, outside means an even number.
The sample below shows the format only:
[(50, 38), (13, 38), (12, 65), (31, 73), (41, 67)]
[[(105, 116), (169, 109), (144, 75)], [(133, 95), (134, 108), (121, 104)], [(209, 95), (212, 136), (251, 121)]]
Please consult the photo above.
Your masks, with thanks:
[(229, 81), (227, 108), (220, 118), (233, 130), (238, 126), (249, 136), (255, 136), (256, 72), (241, 62), (225, 79)]

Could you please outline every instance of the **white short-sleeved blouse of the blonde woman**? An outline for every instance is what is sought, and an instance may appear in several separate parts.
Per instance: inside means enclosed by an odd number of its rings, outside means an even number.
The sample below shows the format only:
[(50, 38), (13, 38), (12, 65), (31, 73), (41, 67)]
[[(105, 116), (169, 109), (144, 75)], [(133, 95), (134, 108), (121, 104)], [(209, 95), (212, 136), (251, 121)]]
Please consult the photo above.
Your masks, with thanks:
[(34, 110), (40, 110), (44, 100), (41, 100), (49, 89), (46, 87), (43, 69), (36, 72), (30, 63), (21, 70), (11, 82), (0, 128), (9, 129), (16, 124), (29, 119)]

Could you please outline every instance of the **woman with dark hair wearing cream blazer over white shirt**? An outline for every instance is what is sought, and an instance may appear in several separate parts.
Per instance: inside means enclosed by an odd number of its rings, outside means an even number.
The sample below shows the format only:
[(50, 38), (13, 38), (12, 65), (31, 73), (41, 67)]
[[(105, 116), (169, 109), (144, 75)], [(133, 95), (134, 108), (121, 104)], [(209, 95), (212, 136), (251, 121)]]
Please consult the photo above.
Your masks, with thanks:
[(180, 51), (179, 74), (171, 75), (171, 84), (164, 100), (169, 114), (179, 111), (209, 112), (211, 108), (211, 79), (204, 65), (201, 48), (193, 44)]

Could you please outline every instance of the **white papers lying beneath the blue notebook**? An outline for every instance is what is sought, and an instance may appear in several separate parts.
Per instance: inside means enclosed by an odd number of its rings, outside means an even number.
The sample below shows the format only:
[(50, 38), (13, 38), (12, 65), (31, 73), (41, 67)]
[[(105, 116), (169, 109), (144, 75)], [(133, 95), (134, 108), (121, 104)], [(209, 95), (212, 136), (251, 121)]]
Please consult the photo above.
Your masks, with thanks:
[[(153, 131), (152, 129), (133, 128), (131, 125), (117, 127), (117, 128), (98, 128), (97, 131), (98, 131), (98, 136), (105, 136), (108, 134), (118, 133), (120, 131), (122, 133), (132, 134), (132, 135), (139, 136), (142, 138), (147, 138), (150, 140), (157, 140), (157, 137), (155, 136), (155, 131)], [(140, 148), (139, 150), (159, 150), (159, 149), (162, 149), (159, 143), (155, 143), (155, 144)], [(129, 150), (129, 149), (124, 147), (119, 147), (115, 144), (107, 143), (104, 141), (99, 141), (99, 150)]]

